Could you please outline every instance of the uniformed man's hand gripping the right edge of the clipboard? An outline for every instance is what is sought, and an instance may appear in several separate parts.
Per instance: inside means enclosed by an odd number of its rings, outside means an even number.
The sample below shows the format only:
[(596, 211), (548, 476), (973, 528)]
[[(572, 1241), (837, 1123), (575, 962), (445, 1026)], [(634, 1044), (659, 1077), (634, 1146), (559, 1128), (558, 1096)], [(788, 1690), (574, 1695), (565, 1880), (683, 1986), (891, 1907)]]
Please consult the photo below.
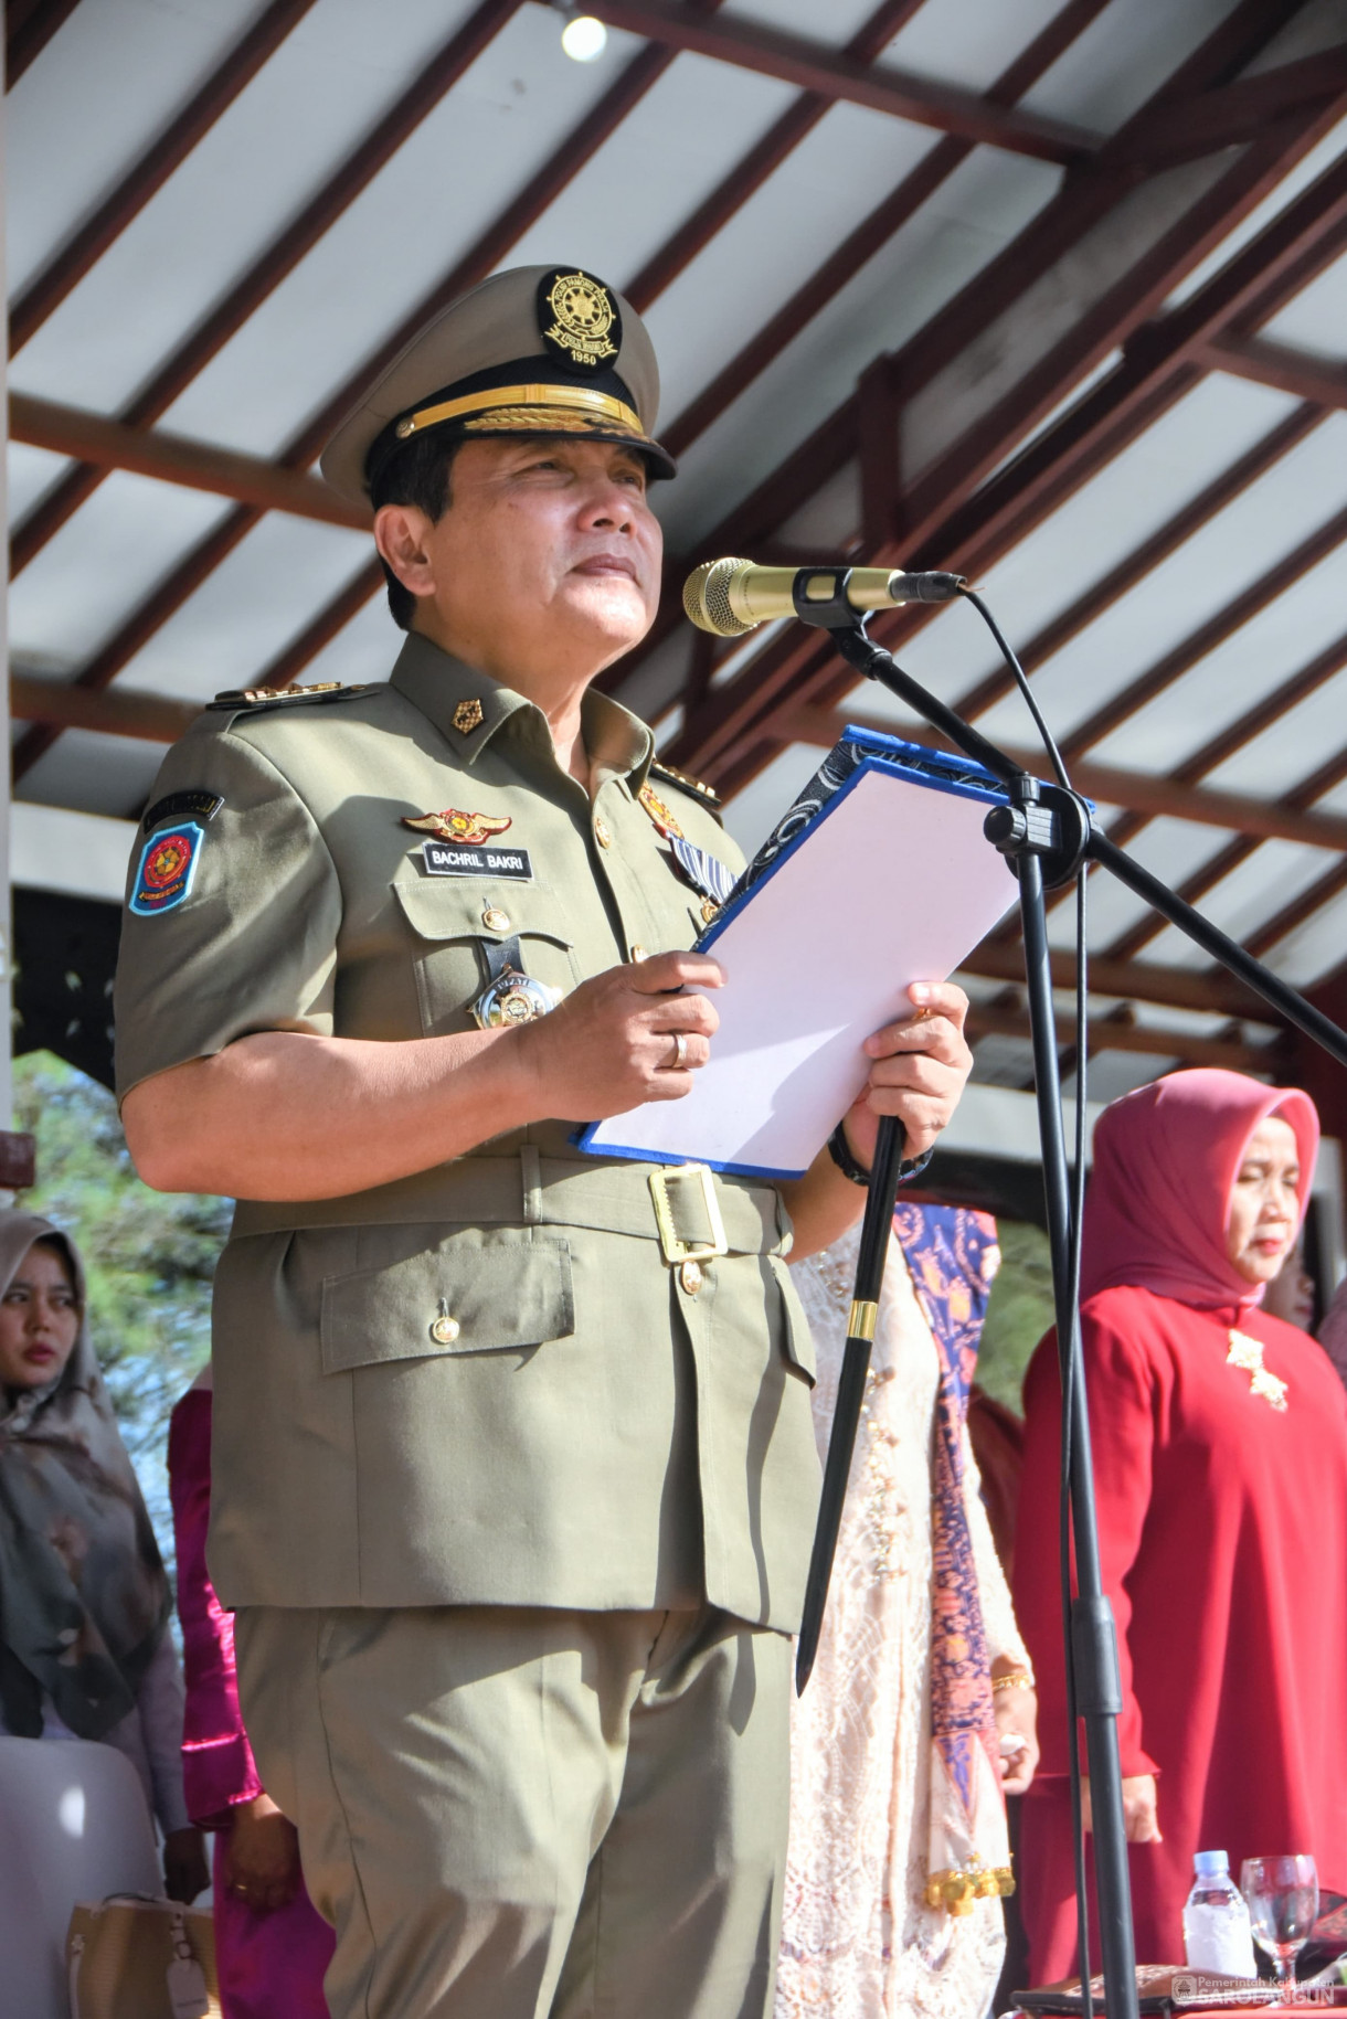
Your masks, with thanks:
[(907, 1135), (905, 1157), (921, 1157), (947, 1125), (973, 1054), (963, 1042), (967, 995), (953, 981), (913, 981), (915, 1016), (885, 1024), (864, 1050), (870, 1080), (846, 1114), (846, 1141), (866, 1169), (874, 1163), (880, 1114), (897, 1114)]

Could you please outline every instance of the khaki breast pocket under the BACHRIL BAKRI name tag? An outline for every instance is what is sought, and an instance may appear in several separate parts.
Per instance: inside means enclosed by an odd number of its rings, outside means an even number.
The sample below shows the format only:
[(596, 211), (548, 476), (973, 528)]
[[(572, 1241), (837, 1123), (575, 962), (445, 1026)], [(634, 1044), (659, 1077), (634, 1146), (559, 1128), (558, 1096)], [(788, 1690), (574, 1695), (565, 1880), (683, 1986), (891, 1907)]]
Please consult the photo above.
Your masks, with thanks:
[(414, 935), (416, 999), (428, 1038), (473, 1030), (473, 1003), (487, 985), (489, 945), (519, 935), (523, 965), (561, 995), (580, 981), (574, 945), (553, 892), (491, 876), (414, 878), (394, 884)]

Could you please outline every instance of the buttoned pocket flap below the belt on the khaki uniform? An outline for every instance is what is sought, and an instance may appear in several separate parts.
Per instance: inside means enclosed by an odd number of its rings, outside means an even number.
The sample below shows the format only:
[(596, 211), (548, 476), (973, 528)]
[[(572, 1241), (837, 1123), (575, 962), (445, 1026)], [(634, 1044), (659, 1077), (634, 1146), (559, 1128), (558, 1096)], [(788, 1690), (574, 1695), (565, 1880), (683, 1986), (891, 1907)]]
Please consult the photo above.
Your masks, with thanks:
[(469, 1234), (323, 1280), (323, 1373), (541, 1347), (576, 1331), (569, 1242)]

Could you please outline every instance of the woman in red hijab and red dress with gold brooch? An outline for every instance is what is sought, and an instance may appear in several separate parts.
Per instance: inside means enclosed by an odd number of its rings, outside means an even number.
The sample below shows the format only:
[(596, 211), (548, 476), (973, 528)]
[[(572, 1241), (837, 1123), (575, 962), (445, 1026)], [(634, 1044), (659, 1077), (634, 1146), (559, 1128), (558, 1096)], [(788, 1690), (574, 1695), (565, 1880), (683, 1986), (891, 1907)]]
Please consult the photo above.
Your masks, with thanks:
[[(1258, 1310), (1317, 1147), (1309, 1094), (1218, 1070), (1141, 1086), (1095, 1131), (1080, 1326), (1139, 1962), (1183, 1960), (1194, 1851), (1232, 1872), (1311, 1851), (1347, 1892), (1347, 1397), (1313, 1339)], [(1076, 1967), (1054, 1335), (1024, 1407), (1014, 1601), (1042, 1763), (1020, 1904), (1042, 1985)]]

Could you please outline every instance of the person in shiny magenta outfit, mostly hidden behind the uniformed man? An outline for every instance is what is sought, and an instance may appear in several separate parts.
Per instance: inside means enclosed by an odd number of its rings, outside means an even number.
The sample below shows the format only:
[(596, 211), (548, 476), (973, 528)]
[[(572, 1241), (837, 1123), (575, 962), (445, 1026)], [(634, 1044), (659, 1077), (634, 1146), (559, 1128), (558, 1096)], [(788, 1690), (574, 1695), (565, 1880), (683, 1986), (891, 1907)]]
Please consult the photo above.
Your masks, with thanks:
[(174, 1409), (168, 1476), (178, 1536), (192, 1821), (216, 1831), (214, 1920), (224, 2019), (327, 2019), (333, 1932), (305, 1892), (295, 1825), (263, 1789), (238, 1712), (234, 1619), (206, 1573), (210, 1369)]

